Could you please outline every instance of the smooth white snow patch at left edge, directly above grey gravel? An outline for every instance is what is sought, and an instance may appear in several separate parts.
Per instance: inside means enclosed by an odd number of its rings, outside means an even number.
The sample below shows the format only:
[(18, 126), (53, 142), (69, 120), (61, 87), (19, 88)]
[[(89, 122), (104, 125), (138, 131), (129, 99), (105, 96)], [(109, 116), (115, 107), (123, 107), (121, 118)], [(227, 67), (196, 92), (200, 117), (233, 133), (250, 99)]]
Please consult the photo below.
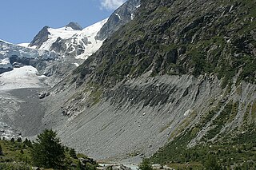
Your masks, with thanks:
[(42, 87), (38, 70), (31, 65), (0, 74), (0, 90)]

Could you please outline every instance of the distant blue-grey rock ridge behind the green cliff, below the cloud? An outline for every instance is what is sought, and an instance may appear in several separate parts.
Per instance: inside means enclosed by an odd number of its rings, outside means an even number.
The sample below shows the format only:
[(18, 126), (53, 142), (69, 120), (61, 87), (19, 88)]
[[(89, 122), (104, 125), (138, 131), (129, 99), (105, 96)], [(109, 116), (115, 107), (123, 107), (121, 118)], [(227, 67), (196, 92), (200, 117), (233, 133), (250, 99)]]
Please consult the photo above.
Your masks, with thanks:
[(97, 39), (104, 40), (110, 37), (111, 34), (114, 34), (121, 26), (124, 26), (126, 23), (130, 22), (135, 16), (136, 10), (140, 5), (140, 0), (129, 0), (120, 6), (113, 14), (110, 15), (110, 18), (102, 26), (102, 29), (97, 34)]

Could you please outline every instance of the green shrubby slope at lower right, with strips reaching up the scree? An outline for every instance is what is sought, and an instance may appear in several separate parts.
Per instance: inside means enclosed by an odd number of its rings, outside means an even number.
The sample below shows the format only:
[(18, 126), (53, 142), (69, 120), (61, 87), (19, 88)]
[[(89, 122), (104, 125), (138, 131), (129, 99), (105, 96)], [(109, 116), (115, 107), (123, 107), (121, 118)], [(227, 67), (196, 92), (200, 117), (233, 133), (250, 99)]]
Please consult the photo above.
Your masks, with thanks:
[[(238, 102), (230, 101), (224, 106), (218, 117), (214, 118), (218, 110), (222, 108), (220, 103), (217, 109), (202, 117), (202, 121), (199, 121), (198, 125), (195, 125), (194, 128), (185, 129), (178, 136), (175, 136), (170, 143), (160, 148), (150, 158), (151, 162), (167, 164), (170, 168), (179, 169), (228, 169), (231, 167), (255, 169), (255, 121), (246, 121), (246, 125), (242, 125), (242, 131), (237, 129), (236, 132), (225, 132), (225, 135), (220, 132), (226, 123), (233, 121), (238, 113), (238, 105)], [(252, 110), (254, 105), (250, 104), (250, 107), (247, 108), (247, 110)], [(212, 121), (211, 128), (202, 136), (202, 140), (195, 146), (188, 147), (190, 141), (198, 135), (198, 131), (210, 121)], [(216, 138), (212, 140), (214, 137)]]

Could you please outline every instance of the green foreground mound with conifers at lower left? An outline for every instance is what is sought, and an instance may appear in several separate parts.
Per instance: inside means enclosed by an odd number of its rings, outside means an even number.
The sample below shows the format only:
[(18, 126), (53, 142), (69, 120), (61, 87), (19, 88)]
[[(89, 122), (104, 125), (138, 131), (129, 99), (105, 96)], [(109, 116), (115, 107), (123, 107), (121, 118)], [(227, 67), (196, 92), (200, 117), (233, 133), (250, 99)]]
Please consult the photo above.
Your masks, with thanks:
[(0, 169), (30, 170), (33, 166), (50, 169), (95, 170), (97, 163), (78, 153), (74, 148), (64, 147), (56, 132), (45, 130), (38, 135), (36, 143), (30, 140), (0, 140)]

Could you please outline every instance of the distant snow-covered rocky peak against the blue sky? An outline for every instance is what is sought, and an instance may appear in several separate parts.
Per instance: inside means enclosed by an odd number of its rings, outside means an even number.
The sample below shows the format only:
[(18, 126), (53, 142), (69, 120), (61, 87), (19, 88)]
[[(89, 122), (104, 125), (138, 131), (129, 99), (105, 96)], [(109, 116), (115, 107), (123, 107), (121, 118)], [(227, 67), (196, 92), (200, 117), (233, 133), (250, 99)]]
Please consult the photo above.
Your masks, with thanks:
[[(32, 43), (30, 46), (37, 45), (37, 49), (52, 50), (60, 53), (63, 57), (73, 56), (86, 59), (102, 45), (103, 41), (99, 41), (95, 37), (106, 22), (107, 19), (102, 20), (83, 30), (80, 30), (79, 25), (74, 22), (58, 29), (46, 27), (36, 36), (38, 43)], [(34, 42), (37, 42), (37, 38), (34, 39)]]

